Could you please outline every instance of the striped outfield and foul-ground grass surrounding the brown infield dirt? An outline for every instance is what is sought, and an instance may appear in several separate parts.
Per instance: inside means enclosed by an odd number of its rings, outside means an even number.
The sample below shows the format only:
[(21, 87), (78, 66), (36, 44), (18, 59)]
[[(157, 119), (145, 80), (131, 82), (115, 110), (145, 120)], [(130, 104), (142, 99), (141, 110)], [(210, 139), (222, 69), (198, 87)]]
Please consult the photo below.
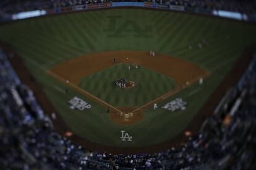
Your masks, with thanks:
[[(20, 55), (72, 131), (90, 141), (119, 147), (158, 144), (182, 132), (244, 49), (255, 44), (255, 38), (256, 26), (249, 23), (142, 9), (93, 10), (0, 26), (0, 40), (11, 44)], [(132, 126), (113, 123), (105, 107), (72, 89), (65, 94), (69, 87), (46, 74), (67, 59), (114, 50), (153, 50), (195, 63), (211, 74), (202, 86), (196, 83), (159, 103), (161, 107), (181, 97), (187, 102), (186, 110), (173, 113), (148, 108), (143, 121)], [(149, 95), (152, 89), (147, 90)], [(92, 108), (70, 110), (67, 101), (75, 95)], [(124, 101), (116, 102), (121, 105)], [(121, 130), (129, 132), (133, 141), (122, 142)]]

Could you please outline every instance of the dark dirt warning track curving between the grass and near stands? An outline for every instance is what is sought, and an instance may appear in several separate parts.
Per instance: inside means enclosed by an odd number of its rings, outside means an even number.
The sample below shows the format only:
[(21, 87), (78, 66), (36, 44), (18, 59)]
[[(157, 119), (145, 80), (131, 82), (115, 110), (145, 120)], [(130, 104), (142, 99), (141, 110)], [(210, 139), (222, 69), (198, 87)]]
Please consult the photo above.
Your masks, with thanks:
[[(30, 71), (23, 65), (23, 62), (20, 59), (19, 55), (14, 54), (14, 52), (12, 52), (12, 49), (10, 49), (9, 46), (2, 45), (2, 47), (4, 47), (7, 54), (14, 56), (12, 58), (9, 58), (9, 60), (11, 61), (14, 69), (16, 70), (22, 82), (26, 84), (28, 87), (30, 87), (30, 89), (32, 89), (33, 93), (35, 94), (36, 100), (38, 101), (38, 103), (40, 103), (45, 113), (48, 114), (49, 117), (51, 117), (51, 113), (56, 113), (56, 115), (58, 116), (58, 119), (52, 120), (56, 131), (58, 131), (62, 136), (65, 136), (64, 134), (67, 131), (72, 131), (67, 126), (65, 121), (61, 118), (61, 116), (58, 114), (58, 111), (53, 107), (51, 102), (49, 102), (49, 99), (46, 97), (45, 92), (41, 88), (40, 84), (33, 78)], [(83, 139), (82, 137), (77, 136), (76, 134), (73, 134), (72, 136), (69, 136), (67, 138), (74, 142), (75, 144), (82, 145), (83, 147), (92, 150), (93, 152), (107, 152), (113, 154), (155, 153), (164, 151), (176, 145), (184, 144), (188, 141), (188, 137), (184, 135), (184, 132), (190, 131), (192, 134), (198, 132), (198, 130), (202, 126), (203, 121), (213, 113), (216, 106), (218, 105), (218, 102), (220, 102), (221, 98), (226, 93), (226, 91), (230, 87), (234, 86), (237, 83), (238, 79), (242, 76), (244, 70), (247, 68), (248, 64), (250, 63), (250, 60), (252, 59), (252, 52), (255, 52), (255, 46), (251, 49), (247, 49), (247, 51), (245, 51), (244, 54), (237, 60), (233, 69), (229, 71), (226, 78), (224, 78), (223, 81), (219, 84), (215, 92), (211, 94), (211, 97), (207, 100), (205, 105), (203, 105), (203, 107), (198, 111), (197, 115), (192, 119), (189, 126), (187, 126), (187, 128), (184, 129), (184, 131), (181, 132), (181, 134), (179, 134), (174, 139), (169, 139), (166, 142), (151, 145), (149, 147), (123, 148), (109, 147), (108, 145), (96, 144), (95, 142), (90, 142), (89, 140)]]

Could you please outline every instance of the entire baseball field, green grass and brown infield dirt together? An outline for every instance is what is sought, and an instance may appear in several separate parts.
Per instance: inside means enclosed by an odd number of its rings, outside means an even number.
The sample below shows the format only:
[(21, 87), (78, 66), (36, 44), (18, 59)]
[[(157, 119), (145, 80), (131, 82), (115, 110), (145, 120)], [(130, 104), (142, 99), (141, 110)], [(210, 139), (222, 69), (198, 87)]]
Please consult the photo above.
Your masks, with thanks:
[[(0, 40), (53, 105), (54, 126), (61, 120), (75, 136), (70, 139), (88, 148), (181, 139), (189, 124), (202, 124), (195, 120), (198, 111), (255, 38), (251, 23), (146, 9), (91, 10), (0, 26)], [(117, 87), (121, 78), (131, 85)], [(75, 109), (74, 97), (90, 107)], [(176, 99), (186, 105), (163, 108)], [(121, 131), (131, 140), (122, 140)]]

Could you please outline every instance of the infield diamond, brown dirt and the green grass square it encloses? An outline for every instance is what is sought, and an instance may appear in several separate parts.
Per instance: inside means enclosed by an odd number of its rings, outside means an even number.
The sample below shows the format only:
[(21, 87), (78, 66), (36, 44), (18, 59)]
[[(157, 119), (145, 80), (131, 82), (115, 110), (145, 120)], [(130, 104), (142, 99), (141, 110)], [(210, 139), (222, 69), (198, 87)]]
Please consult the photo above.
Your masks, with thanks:
[[(126, 57), (121, 56), (129, 56), (129, 60), (127, 60)], [(142, 71), (141, 67), (139, 70), (135, 68), (131, 68), (131, 70), (128, 70), (127, 68), (130, 67), (128, 65), (121, 65), (121, 68), (119, 68), (117, 65), (117, 67), (112, 68), (113, 71), (106, 70), (106, 74), (102, 73), (101, 76), (89, 76), (97, 71), (98, 73), (101, 73), (100, 70), (106, 68), (111, 69), (109, 67), (113, 67), (113, 57), (117, 60), (116, 63), (137, 63), (136, 65), (150, 68), (151, 70), (158, 71), (158, 73), (166, 75), (169, 78), (173, 78), (176, 82), (177, 87), (174, 89), (174, 83), (171, 80), (164, 81), (159, 79), (161, 78), (161, 75), (152, 75), (151, 73), (150, 75), (146, 76), (150, 73), (150, 70), (145, 70), (143, 71), (142, 76), (138, 76)], [(94, 60), (100, 62), (101, 65), (98, 65), (97, 62), (92, 62)], [(161, 65), (161, 67), (159, 67), (159, 65)], [(52, 75), (54, 78), (59, 79), (63, 83), (65, 83), (65, 79), (68, 79), (68, 84), (70, 85), (70, 87), (74, 87), (82, 94), (87, 95), (88, 97), (92, 97), (92, 99), (95, 99), (96, 102), (103, 103), (103, 105), (106, 105), (106, 107), (113, 108), (113, 111), (117, 111), (117, 113), (126, 112), (126, 110), (117, 109), (116, 106), (134, 107), (143, 105), (139, 106), (139, 108), (135, 108), (134, 110), (132, 110), (132, 112), (142, 110), (143, 108), (149, 107), (152, 103), (151, 101), (160, 101), (162, 99), (165, 99), (166, 95), (168, 95), (169, 97), (174, 94), (173, 92), (179, 92), (180, 89), (188, 86), (186, 82), (193, 84), (199, 78), (204, 78), (209, 74), (207, 71), (204, 71), (198, 68), (196, 65), (186, 62), (185, 60), (180, 60), (161, 54), (158, 54), (158, 57), (150, 57), (150, 55), (148, 55), (148, 52), (136, 51), (102, 52), (88, 55), (85, 57), (77, 57), (75, 59), (70, 59), (66, 62), (62, 62), (61, 64), (56, 65), (54, 68), (49, 70), (48, 73), (49, 75)], [(113, 89), (113, 87), (111, 86), (111, 77), (114, 76), (114, 73), (124, 73), (123, 75), (117, 75), (115, 78), (135, 74), (138, 76), (138, 78), (134, 79), (137, 79), (137, 84), (140, 81), (140, 84), (133, 89), (134, 91), (122, 91), (121, 89), (119, 89), (119, 91), (116, 91), (116, 89)], [(86, 76), (89, 76), (89, 78), (83, 80), (85, 81), (83, 87), (83, 84), (81, 84), (81, 79)], [(106, 78), (107, 80), (104, 81), (104, 78)], [(96, 83), (92, 83), (93, 81), (95, 81)], [(92, 83), (92, 85), (90, 85), (90, 83)], [(82, 87), (79, 87), (79, 84)], [(102, 86), (97, 86), (98, 84)], [(147, 85), (150, 86), (147, 87)], [(158, 85), (162, 87), (157, 88)], [(163, 87), (164, 85), (166, 87)], [(154, 91), (153, 89), (150, 89), (151, 87), (155, 87), (156, 90)], [(101, 91), (99, 89), (101, 89)], [(135, 91), (136, 89), (137, 91)], [(166, 90), (164, 91), (164, 89)], [(139, 100), (139, 97), (143, 97), (143, 94), (148, 94), (148, 91), (151, 91), (151, 96), (145, 96), (143, 98), (144, 100)], [(106, 94), (106, 97), (104, 94)], [(111, 97), (116, 96), (117, 98), (113, 99), (109, 97), (109, 95), (111, 95)], [(122, 116), (120, 116), (119, 118), (121, 119), (120, 122), (123, 122)], [(129, 124), (132, 124), (132, 119), (127, 119), (127, 121), (129, 121)]]

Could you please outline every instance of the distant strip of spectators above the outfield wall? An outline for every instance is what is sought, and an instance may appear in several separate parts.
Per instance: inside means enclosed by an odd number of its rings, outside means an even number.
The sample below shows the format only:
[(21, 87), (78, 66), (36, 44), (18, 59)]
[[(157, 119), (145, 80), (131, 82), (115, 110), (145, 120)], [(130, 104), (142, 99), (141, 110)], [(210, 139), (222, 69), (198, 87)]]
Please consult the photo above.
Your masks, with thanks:
[(97, 4), (103, 2), (119, 2), (119, 1), (134, 1), (134, 2), (156, 2), (157, 4), (168, 4), (174, 6), (184, 6), (190, 10), (229, 10), (241, 12), (242, 14), (252, 14), (256, 10), (255, 0), (1, 0), (1, 12), (15, 13), (27, 10), (37, 9), (53, 9), (56, 7), (69, 7), (83, 4)]

